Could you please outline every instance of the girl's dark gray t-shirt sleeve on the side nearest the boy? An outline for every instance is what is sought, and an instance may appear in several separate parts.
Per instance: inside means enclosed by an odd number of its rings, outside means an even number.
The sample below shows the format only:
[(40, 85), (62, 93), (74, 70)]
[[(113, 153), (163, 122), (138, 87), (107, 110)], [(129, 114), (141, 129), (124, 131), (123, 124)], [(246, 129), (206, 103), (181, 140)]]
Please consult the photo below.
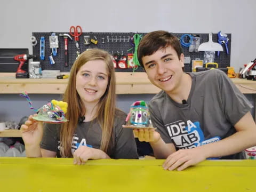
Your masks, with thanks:
[(115, 159), (137, 159), (137, 146), (132, 129), (123, 128), (126, 115), (115, 119)]

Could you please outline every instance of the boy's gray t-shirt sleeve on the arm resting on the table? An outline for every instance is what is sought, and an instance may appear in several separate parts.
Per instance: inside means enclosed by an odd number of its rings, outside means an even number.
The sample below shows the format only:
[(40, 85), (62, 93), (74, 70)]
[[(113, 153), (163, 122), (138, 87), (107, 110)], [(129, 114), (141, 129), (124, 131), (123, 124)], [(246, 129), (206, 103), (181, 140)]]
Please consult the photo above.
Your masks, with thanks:
[(222, 71), (220, 72), (217, 78), (221, 90), (222, 107), (226, 118), (231, 124), (235, 125), (253, 106), (236, 85), (231, 82), (229, 77)]

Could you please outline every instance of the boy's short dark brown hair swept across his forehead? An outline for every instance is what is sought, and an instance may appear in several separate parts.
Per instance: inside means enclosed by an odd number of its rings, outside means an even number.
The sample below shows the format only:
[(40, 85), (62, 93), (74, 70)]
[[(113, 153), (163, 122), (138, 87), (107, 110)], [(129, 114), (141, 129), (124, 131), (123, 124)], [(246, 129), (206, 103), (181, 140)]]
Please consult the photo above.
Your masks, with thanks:
[[(172, 46), (177, 52), (178, 58), (180, 59), (182, 51), (181, 44), (177, 37), (164, 30), (157, 30), (146, 34), (138, 46), (138, 60), (140, 65), (144, 68), (142, 63), (142, 57), (151, 55), (157, 50)], [(145, 68), (144, 68), (145, 69)]]

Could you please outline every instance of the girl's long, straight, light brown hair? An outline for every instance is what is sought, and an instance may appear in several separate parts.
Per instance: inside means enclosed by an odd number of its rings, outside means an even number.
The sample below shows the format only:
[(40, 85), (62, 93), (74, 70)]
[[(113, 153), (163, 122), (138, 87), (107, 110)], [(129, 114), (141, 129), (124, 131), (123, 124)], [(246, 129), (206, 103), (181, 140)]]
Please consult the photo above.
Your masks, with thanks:
[[(67, 123), (61, 125), (60, 130), (60, 153), (62, 157), (73, 157), (71, 153), (71, 142), (75, 133), (79, 117), (85, 115), (84, 104), (76, 91), (76, 75), (78, 70), (88, 61), (103, 60), (106, 63), (108, 73), (108, 85), (105, 94), (98, 103), (95, 118), (97, 118), (101, 129), (101, 147), (108, 155), (111, 155), (114, 147), (114, 117), (116, 109), (116, 78), (113, 61), (110, 54), (100, 49), (90, 49), (83, 52), (74, 62), (71, 68), (67, 89), (63, 95), (63, 101), (68, 103), (66, 118)], [(86, 65), (86, 64), (85, 64)]]

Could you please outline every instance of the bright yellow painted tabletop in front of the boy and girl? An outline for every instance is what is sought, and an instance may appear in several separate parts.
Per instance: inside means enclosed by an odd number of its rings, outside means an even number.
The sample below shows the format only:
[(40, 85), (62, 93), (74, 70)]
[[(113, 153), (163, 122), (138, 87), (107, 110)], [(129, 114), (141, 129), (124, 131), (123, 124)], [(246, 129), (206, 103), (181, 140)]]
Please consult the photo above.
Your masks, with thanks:
[(204, 161), (165, 171), (164, 160), (0, 157), (0, 191), (256, 191), (256, 161)]

